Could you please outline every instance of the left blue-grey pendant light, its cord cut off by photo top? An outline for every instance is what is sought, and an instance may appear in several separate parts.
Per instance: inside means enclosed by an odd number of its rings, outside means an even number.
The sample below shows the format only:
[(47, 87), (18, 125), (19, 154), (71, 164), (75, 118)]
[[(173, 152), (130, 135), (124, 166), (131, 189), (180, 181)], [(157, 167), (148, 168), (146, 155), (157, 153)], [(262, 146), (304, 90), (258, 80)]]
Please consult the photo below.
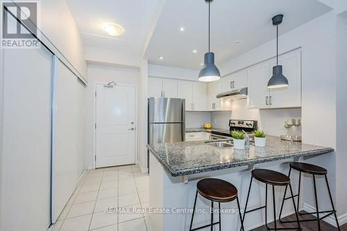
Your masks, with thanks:
[(212, 82), (221, 79), (219, 69), (214, 65), (214, 53), (210, 52), (210, 4), (213, 0), (205, 0), (208, 3), (208, 52), (203, 57), (203, 68), (198, 74), (198, 80)]

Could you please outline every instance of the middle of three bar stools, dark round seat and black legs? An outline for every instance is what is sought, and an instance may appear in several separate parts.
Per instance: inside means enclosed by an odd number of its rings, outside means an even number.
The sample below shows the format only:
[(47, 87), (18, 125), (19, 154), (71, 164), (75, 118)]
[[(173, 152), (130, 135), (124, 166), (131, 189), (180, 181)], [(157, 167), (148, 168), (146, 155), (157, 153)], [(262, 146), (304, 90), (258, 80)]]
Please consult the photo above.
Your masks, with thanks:
[[(251, 192), (251, 186), (252, 186), (253, 178), (266, 184), (265, 205), (262, 207), (257, 207), (255, 209), (251, 209), (251, 210), (247, 211), (246, 209), (247, 209), (249, 194)], [(269, 228), (269, 226), (267, 225), (267, 185), (272, 185), (274, 228)], [(285, 174), (279, 173), (278, 171), (272, 171), (269, 169), (254, 169), (252, 171), (251, 183), (249, 184), (248, 195), (247, 195), (247, 199), (246, 199), (246, 206), (244, 208), (243, 220), (244, 220), (244, 217), (246, 216), (246, 213), (254, 212), (255, 210), (265, 208), (265, 225), (266, 225), (266, 228), (268, 230), (301, 230), (300, 223), (298, 221), (298, 214), (296, 213), (294, 198), (293, 198), (293, 205), (294, 205), (294, 211), (296, 214), (296, 222), (298, 223), (298, 227), (277, 228), (277, 225), (276, 225), (276, 205), (275, 205), (275, 186), (285, 186), (285, 187), (289, 186), (289, 189), (291, 191), (291, 195), (293, 195), (293, 190), (291, 189), (291, 185), (290, 185), (290, 178), (288, 176), (285, 176)]]

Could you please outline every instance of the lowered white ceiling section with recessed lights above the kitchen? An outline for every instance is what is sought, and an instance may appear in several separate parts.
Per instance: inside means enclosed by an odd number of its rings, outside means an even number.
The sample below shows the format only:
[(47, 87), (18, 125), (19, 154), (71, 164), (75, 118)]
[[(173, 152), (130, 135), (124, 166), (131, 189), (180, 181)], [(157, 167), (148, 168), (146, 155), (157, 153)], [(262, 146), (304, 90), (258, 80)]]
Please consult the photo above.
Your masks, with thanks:
[[(329, 10), (317, 0), (215, 0), (211, 4), (211, 51), (217, 63), (235, 58), (276, 37), (276, 27), (271, 24), (274, 15), (285, 15), (280, 25), (283, 34)], [(185, 28), (183, 33), (180, 26)], [(235, 40), (242, 42), (235, 45)], [(194, 49), (196, 55), (192, 55)], [(200, 69), (207, 50), (208, 4), (204, 0), (167, 0), (145, 58), (153, 64)]]

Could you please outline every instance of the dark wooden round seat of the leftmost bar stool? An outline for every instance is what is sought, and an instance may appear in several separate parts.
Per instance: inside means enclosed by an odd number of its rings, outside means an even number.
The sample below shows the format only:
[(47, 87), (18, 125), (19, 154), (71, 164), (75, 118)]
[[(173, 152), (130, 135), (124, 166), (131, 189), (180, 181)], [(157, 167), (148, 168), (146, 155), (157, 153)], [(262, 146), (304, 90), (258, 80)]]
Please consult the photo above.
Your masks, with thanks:
[(217, 202), (229, 202), (237, 198), (237, 189), (234, 185), (215, 178), (199, 180), (196, 190), (204, 198)]

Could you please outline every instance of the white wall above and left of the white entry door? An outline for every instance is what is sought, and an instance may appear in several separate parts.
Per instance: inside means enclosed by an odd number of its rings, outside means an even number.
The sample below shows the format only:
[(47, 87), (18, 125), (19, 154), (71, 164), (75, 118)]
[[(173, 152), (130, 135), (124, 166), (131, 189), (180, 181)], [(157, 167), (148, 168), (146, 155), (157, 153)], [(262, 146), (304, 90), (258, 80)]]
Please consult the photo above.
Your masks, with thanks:
[[(88, 85), (85, 90), (85, 162), (89, 169), (94, 168), (94, 123), (95, 123), (95, 84), (110, 83), (139, 85), (139, 70), (105, 65), (88, 65)], [(139, 96), (139, 94), (137, 94)], [(139, 123), (137, 123), (139, 124)], [(137, 130), (139, 132), (139, 130)], [(137, 148), (139, 150), (139, 148)]]

